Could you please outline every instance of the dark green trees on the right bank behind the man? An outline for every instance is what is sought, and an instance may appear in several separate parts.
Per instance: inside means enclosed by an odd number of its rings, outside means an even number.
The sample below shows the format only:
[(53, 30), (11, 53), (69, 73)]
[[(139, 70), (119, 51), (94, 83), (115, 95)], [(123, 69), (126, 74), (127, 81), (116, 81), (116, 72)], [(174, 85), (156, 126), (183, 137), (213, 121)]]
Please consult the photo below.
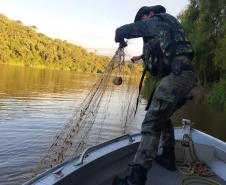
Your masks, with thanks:
[(190, 0), (178, 18), (195, 50), (199, 84), (212, 87), (209, 103), (226, 109), (226, 0)]

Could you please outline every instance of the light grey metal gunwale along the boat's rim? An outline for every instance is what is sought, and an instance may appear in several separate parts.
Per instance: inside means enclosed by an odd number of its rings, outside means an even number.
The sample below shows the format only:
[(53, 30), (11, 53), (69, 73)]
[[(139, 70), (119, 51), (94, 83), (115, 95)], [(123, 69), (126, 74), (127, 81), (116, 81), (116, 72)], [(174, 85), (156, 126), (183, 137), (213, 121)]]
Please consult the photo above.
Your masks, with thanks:
[[(182, 130), (183, 130), (183, 128), (181, 128), (181, 127), (174, 127), (174, 132), (176, 133), (175, 134), (175, 139), (178, 140), (178, 141), (181, 140)], [(202, 136), (202, 138), (197, 138), (197, 136), (200, 136), (200, 135)], [(110, 145), (114, 145), (116, 143), (120, 143), (120, 142), (124, 142), (124, 141), (129, 140), (129, 143), (126, 144), (126, 145), (120, 145), (120, 147), (111, 147), (111, 151), (108, 151), (105, 154), (102, 154), (102, 155), (100, 155), (98, 157), (98, 158), (101, 158), (101, 157), (103, 157), (105, 155), (108, 155), (108, 154), (112, 153), (115, 150), (119, 150), (119, 149), (124, 148), (126, 146), (129, 146), (129, 145), (135, 144), (137, 142), (140, 142), (140, 139), (136, 139), (136, 138), (139, 138), (139, 137), (141, 137), (141, 133), (135, 133), (135, 134), (131, 134), (131, 135), (126, 134), (126, 135), (114, 138), (112, 140), (100, 143), (98, 145), (89, 147), (81, 155), (73, 157), (73, 158), (71, 158), (69, 160), (64, 161), (61, 164), (56, 165), (55, 167), (53, 167), (53, 168), (41, 173), (37, 177), (35, 177), (35, 178), (29, 180), (28, 182), (24, 183), (24, 185), (29, 185), (29, 184), (32, 184), (32, 183), (42, 183), (42, 179), (47, 178), (50, 175), (53, 175), (54, 172), (57, 172), (63, 166), (66, 166), (67, 164), (70, 164), (70, 163), (72, 163), (74, 166), (78, 167), (74, 171), (79, 170), (83, 166), (85, 166), (85, 165), (89, 164), (90, 162), (92, 162), (92, 161), (90, 161), (88, 163), (83, 164), (83, 162), (86, 160), (86, 156), (87, 155), (91, 156), (92, 153), (98, 152), (98, 150), (101, 150), (101, 149), (103, 150), (105, 147), (109, 147)], [(192, 137), (192, 139), (194, 140), (195, 143), (204, 144), (204, 145), (211, 145), (214, 148), (217, 148), (217, 149), (219, 149), (219, 150), (221, 150), (221, 151), (226, 153), (226, 143), (221, 141), (221, 140), (219, 140), (219, 139), (217, 139), (217, 138), (215, 138), (215, 137), (213, 137), (213, 136), (211, 136), (211, 135), (209, 135), (209, 134), (206, 134), (206, 133), (204, 133), (202, 131), (199, 131), (197, 129), (191, 128), (191, 137)], [(87, 151), (89, 151), (89, 152), (87, 152)], [(82, 162), (81, 162), (81, 160), (82, 160)], [(96, 159), (94, 159), (94, 160), (96, 160)], [(67, 175), (68, 174), (65, 174), (62, 178), (64, 178)], [(62, 178), (59, 177), (58, 179), (56, 179), (57, 180), (56, 182), (58, 182)]]

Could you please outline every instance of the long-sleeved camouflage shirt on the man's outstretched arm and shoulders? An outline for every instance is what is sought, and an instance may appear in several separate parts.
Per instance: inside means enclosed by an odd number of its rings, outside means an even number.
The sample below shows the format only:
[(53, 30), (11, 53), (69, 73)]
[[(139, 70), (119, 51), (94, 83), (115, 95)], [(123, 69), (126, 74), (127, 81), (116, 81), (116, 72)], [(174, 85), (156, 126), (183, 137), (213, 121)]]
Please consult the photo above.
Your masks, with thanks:
[(191, 43), (181, 24), (167, 13), (157, 14), (146, 21), (137, 21), (116, 29), (116, 42), (122, 42), (125, 38), (138, 37), (143, 37), (144, 43), (151, 39), (158, 39), (161, 51), (166, 57), (193, 53)]

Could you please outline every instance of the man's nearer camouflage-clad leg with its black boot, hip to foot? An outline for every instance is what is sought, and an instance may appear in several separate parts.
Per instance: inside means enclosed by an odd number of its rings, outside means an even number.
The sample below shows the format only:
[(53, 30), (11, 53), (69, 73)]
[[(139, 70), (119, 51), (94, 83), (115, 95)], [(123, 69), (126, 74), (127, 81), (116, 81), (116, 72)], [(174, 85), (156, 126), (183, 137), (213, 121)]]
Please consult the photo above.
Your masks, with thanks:
[(183, 72), (178, 76), (170, 74), (162, 79), (142, 123), (142, 138), (130, 172), (116, 176), (113, 185), (145, 184), (147, 170), (157, 155), (161, 130), (176, 110), (178, 101), (190, 92), (194, 84), (192, 72)]

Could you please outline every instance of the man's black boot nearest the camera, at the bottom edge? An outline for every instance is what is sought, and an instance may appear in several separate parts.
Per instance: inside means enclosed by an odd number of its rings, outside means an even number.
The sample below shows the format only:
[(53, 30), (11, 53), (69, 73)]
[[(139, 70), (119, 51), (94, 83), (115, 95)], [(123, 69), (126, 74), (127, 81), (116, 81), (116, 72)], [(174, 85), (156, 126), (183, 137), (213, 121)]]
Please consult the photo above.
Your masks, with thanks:
[(130, 165), (125, 172), (116, 175), (112, 185), (145, 185), (147, 169), (139, 164)]

